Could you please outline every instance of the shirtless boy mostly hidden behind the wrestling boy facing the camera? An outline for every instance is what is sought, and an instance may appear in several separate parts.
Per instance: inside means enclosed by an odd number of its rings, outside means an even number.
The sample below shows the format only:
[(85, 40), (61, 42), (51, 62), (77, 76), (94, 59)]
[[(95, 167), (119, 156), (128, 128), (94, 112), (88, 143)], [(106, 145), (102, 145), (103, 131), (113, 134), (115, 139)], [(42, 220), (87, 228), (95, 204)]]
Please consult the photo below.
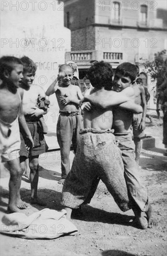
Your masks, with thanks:
[[(125, 62), (128, 68), (128, 62)], [(137, 69), (137, 77), (139, 76), (139, 67), (134, 65)], [(126, 68), (126, 67), (125, 67)], [(139, 104), (143, 108), (143, 113), (141, 114), (134, 114), (133, 121), (132, 121), (132, 128), (133, 128), (133, 135), (134, 135), (134, 143), (135, 143), (135, 161), (137, 165), (139, 165), (140, 153), (141, 153), (141, 138), (145, 136), (144, 129), (146, 128), (146, 111), (147, 111), (147, 104), (146, 104), (146, 97), (145, 97), (145, 90), (143, 86), (137, 84), (133, 81), (133, 88), (135, 91), (135, 103)]]

